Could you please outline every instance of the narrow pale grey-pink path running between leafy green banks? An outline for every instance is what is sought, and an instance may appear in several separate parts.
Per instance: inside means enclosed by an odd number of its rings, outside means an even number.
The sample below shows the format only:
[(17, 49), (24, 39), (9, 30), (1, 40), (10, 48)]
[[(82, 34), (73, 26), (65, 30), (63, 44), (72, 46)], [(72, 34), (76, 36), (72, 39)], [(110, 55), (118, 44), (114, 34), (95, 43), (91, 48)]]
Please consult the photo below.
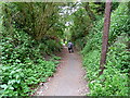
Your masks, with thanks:
[(44, 83), (36, 91), (36, 96), (84, 96), (89, 91), (80, 56), (77, 52), (68, 53), (66, 47), (62, 54), (63, 59), (54, 77)]

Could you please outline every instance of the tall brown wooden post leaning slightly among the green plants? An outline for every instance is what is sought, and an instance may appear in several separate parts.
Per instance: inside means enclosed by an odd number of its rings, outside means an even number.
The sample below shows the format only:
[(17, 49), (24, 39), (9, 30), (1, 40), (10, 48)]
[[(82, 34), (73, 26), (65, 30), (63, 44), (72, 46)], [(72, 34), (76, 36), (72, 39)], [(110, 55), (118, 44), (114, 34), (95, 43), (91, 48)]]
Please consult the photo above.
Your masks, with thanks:
[(105, 69), (104, 64), (106, 64), (108, 32), (109, 32), (109, 24), (110, 24), (110, 7), (112, 7), (112, 0), (106, 0), (103, 39), (102, 39), (102, 52), (101, 52), (101, 61), (100, 61), (100, 69), (101, 69), (100, 75), (103, 73)]

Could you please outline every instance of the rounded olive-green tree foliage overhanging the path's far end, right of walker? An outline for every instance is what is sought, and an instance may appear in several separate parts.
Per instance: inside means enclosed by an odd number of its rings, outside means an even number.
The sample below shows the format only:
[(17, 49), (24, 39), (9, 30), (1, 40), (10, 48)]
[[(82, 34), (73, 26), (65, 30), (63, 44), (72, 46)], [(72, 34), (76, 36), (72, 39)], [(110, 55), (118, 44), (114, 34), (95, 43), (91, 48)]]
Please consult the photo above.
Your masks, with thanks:
[[(88, 16), (84, 9), (79, 8), (75, 13), (72, 14), (74, 16), (74, 24), (70, 27), (70, 39), (80, 47), (83, 48), (83, 44), (86, 42), (84, 38), (88, 35), (88, 30), (91, 27), (91, 20)], [(83, 38), (83, 39), (82, 39)]]

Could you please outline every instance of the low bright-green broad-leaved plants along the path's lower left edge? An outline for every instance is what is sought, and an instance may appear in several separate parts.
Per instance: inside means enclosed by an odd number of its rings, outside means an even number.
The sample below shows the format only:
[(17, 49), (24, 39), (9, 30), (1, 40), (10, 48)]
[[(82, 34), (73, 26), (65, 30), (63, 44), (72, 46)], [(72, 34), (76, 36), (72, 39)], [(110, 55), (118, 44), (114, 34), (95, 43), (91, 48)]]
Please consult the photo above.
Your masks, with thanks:
[(26, 63), (14, 65), (4, 64), (1, 70), (1, 94), (3, 96), (27, 96), (31, 93), (30, 87), (52, 76), (55, 64), (38, 59), (37, 64), (28, 60)]

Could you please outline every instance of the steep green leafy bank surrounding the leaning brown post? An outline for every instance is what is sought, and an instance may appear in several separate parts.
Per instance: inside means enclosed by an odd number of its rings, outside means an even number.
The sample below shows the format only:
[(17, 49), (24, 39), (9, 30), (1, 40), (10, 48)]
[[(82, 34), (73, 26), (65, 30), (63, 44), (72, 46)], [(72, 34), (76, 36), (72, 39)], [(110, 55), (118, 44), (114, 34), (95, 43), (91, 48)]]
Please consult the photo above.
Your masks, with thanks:
[(107, 63), (101, 76), (100, 58), (102, 45), (103, 20), (95, 22), (89, 33), (87, 45), (82, 50), (83, 65), (90, 88), (90, 96), (128, 96), (129, 95), (129, 35), (130, 15), (128, 3), (112, 13)]

